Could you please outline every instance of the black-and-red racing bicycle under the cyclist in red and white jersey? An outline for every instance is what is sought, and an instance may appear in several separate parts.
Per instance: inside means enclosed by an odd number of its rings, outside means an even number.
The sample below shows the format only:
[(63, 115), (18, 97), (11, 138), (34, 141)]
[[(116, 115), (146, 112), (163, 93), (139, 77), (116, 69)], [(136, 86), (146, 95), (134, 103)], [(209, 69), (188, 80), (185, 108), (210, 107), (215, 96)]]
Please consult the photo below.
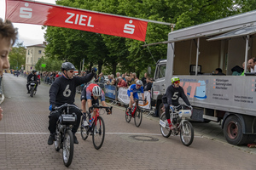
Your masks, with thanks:
[[(81, 118), (81, 136), (82, 139), (87, 139), (89, 133), (92, 135), (92, 142), (96, 150), (102, 147), (105, 139), (105, 123), (102, 116), (100, 116), (100, 109), (107, 109), (112, 113), (112, 107), (105, 107), (100, 105), (92, 105), (89, 108), (89, 112), (82, 113)], [(90, 122), (90, 112), (96, 111), (96, 116), (92, 122)], [(104, 114), (105, 111), (102, 112)]]

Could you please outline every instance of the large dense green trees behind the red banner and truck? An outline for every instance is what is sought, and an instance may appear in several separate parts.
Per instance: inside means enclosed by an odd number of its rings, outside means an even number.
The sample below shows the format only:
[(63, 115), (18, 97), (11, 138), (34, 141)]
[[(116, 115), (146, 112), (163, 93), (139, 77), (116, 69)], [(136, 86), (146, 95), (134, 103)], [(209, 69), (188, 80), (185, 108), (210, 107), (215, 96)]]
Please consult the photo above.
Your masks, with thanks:
[[(145, 20), (157, 20), (176, 24), (174, 30), (218, 20), (249, 11), (256, 7), (256, 0), (58, 0), (58, 5), (83, 8), (108, 14), (119, 14)], [(106, 28), (108, 29), (108, 28)], [(48, 46), (46, 55), (85, 65), (102, 65), (108, 73), (116, 71), (147, 71), (158, 59), (166, 59), (167, 45), (143, 48), (145, 43), (167, 41), (171, 26), (148, 22), (146, 41), (113, 37), (93, 32), (47, 26), (45, 34)]]

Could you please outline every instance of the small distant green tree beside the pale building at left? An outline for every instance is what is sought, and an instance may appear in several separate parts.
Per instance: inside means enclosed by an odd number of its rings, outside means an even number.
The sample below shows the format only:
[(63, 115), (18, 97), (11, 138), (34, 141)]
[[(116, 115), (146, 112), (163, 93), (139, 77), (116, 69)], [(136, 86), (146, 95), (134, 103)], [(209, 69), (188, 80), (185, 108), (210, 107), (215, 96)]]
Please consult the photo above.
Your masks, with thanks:
[[(17, 42), (9, 53), (10, 69), (20, 70), (26, 64), (26, 48), (23, 42)], [(18, 69), (17, 69), (18, 66)]]

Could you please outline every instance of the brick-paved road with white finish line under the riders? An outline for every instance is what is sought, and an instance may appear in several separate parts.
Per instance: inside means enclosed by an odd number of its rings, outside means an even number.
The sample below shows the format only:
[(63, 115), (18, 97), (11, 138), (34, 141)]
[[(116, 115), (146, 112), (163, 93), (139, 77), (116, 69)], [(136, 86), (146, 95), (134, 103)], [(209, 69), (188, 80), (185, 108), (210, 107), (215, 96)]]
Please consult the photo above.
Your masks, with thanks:
[[(26, 94), (23, 77), (5, 74), (3, 86), (0, 169), (66, 169), (61, 152), (47, 144), (49, 85), (41, 84), (33, 98)], [(79, 94), (76, 104), (80, 106)], [(77, 133), (79, 144), (68, 169), (255, 169), (255, 149), (227, 144), (221, 133), (218, 137), (217, 123), (193, 123), (195, 139), (186, 147), (179, 136), (162, 137), (157, 118), (144, 116), (141, 127), (135, 127), (133, 120), (125, 122), (121, 107), (102, 117), (106, 125), (102, 148), (95, 150), (91, 137), (84, 141)]]

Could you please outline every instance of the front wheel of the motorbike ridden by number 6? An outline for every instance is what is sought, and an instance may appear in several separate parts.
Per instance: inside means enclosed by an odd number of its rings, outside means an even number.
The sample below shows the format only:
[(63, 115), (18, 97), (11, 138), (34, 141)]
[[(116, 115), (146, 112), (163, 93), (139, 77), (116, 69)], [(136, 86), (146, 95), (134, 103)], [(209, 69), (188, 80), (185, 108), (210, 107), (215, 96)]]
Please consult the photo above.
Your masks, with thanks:
[(69, 167), (73, 160), (73, 133), (70, 129), (64, 134), (62, 158), (64, 165)]

